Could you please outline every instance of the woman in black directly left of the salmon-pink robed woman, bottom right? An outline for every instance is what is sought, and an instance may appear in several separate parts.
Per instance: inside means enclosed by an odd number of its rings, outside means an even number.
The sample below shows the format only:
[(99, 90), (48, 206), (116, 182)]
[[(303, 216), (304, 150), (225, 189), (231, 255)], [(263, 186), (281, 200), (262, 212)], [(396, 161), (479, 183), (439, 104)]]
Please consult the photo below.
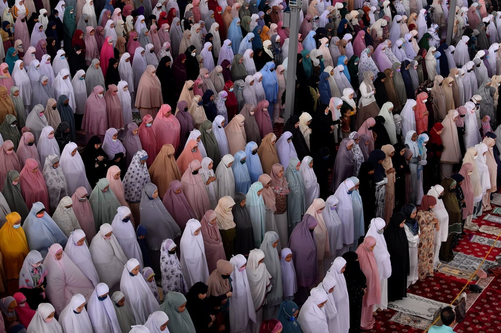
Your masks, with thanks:
[(348, 298), (350, 300), (350, 332), (360, 332), (360, 318), (362, 316), (362, 299), (365, 289), (367, 288), (367, 280), (364, 272), (360, 269), (358, 262), (358, 254), (349, 251), (343, 254), (346, 260), (344, 276), (346, 279), (346, 287), (348, 288)]

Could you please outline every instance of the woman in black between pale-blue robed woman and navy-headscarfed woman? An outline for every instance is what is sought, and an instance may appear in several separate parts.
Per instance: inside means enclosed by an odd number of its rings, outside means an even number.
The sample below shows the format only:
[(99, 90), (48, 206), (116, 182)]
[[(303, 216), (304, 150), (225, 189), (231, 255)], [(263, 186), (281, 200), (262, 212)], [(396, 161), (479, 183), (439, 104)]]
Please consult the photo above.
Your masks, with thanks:
[(376, 182), (374, 181), (373, 174), (374, 165), (371, 162), (363, 162), (360, 165), (360, 171), (358, 171), (358, 179), (360, 180), (358, 192), (362, 198), (365, 232), (369, 230), (371, 219), (376, 213)]

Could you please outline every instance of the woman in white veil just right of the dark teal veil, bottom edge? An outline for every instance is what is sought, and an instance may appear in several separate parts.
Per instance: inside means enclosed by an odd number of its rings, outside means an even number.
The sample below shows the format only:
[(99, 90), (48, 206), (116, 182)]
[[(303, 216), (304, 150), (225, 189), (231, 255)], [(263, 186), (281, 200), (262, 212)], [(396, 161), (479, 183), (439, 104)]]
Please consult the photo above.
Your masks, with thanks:
[(311, 289), (310, 296), (301, 307), (298, 322), (305, 333), (328, 332), (327, 317), (323, 308), (319, 304), (328, 300), (324, 289), (315, 287)]

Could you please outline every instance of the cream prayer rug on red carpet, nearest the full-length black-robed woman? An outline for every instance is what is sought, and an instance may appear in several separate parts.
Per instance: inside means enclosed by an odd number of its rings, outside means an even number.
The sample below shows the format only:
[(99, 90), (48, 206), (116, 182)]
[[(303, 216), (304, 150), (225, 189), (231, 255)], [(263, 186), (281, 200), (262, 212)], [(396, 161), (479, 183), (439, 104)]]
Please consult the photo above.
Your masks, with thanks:
[(433, 314), (438, 308), (448, 305), (447, 303), (407, 293), (407, 297), (404, 299), (390, 302), (388, 308), (432, 320)]

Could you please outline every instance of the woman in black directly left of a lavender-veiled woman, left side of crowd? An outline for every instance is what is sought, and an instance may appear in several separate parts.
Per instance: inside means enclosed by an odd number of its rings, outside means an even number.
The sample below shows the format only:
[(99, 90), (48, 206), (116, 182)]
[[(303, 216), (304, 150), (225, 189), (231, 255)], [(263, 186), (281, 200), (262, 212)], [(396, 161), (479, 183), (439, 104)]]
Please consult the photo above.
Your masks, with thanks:
[(82, 154), (85, 173), (92, 188), (96, 186), (99, 179), (106, 177), (108, 170), (108, 155), (101, 147), (101, 139), (94, 135), (89, 139)]

